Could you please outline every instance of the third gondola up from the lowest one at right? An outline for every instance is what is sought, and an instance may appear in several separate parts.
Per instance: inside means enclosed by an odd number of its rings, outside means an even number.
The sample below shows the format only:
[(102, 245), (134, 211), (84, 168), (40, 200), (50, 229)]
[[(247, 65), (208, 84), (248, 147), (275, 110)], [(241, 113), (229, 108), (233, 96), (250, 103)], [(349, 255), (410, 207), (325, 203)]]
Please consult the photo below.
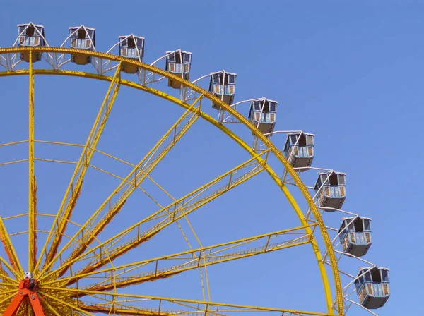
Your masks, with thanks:
[(334, 171), (319, 173), (314, 190), (319, 207), (341, 209), (346, 199), (346, 174)]

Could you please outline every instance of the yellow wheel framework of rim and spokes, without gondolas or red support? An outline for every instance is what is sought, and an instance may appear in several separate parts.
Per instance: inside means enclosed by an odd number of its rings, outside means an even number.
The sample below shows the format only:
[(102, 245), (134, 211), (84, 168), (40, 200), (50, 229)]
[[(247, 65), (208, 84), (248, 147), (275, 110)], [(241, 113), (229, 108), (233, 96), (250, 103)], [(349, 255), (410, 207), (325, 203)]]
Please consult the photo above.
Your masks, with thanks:
[[(13, 62), (13, 56), (17, 56), (21, 52), (43, 52), (43, 56), (47, 56), (47, 60), (51, 68), (34, 69), (30, 62), (29, 69), (18, 69), (18, 63)], [(97, 73), (86, 73), (82, 71), (66, 70), (69, 63), (59, 63), (59, 56), (81, 54), (90, 56), (95, 59), (99, 65)], [(31, 56), (32, 54), (30, 54)], [(16, 57), (15, 57), (16, 58)], [(163, 56), (161, 59), (165, 58)], [(6, 71), (0, 73), (0, 76), (8, 75), (28, 75), (30, 78), (30, 135), (28, 140), (10, 142), (6, 145), (16, 145), (18, 143), (28, 142), (29, 154), (28, 158), (18, 159), (11, 162), (1, 162), (0, 166), (8, 164), (16, 164), (19, 162), (29, 162), (29, 209), (28, 218), (30, 223), (28, 226), (29, 236), (29, 258), (28, 267), (30, 272), (34, 272), (37, 281), (37, 293), (43, 297), (41, 300), (42, 309), (46, 315), (93, 315), (93, 313), (106, 313), (114, 315), (185, 315), (185, 314), (214, 314), (214, 315), (231, 315), (235, 312), (273, 312), (278, 315), (345, 315), (346, 304), (343, 303), (344, 291), (341, 287), (341, 272), (338, 269), (338, 253), (334, 250), (334, 241), (331, 241), (327, 227), (322, 220), (322, 210), (314, 203), (314, 198), (308, 192), (308, 188), (302, 183), (299, 172), (294, 170), (287, 159), (281, 154), (281, 150), (270, 140), (270, 135), (260, 133), (257, 126), (245, 119), (235, 108), (237, 104), (228, 106), (221, 99), (206, 92), (196, 83), (189, 83), (183, 79), (183, 76), (168, 73), (163, 69), (155, 67), (158, 59), (152, 65), (141, 63), (141, 60), (125, 59), (120, 56), (101, 53), (98, 51), (83, 49), (67, 49), (64, 47), (11, 47), (8, 49), (0, 49), (1, 66), (5, 66)], [(128, 63), (140, 69), (139, 82), (124, 80), (120, 76), (122, 63)], [(58, 65), (60, 64), (60, 67)], [(106, 72), (114, 70), (113, 76), (105, 75)], [(98, 116), (93, 123), (93, 128), (86, 144), (66, 144), (59, 142), (49, 142), (46, 140), (36, 140), (34, 135), (34, 78), (35, 75), (71, 75), (84, 78), (93, 78), (97, 80), (105, 80), (110, 82), (105, 99), (100, 107)], [(179, 95), (174, 97), (166, 92), (155, 90), (151, 84), (169, 78), (175, 80), (182, 85)], [(110, 110), (114, 104), (120, 85), (133, 87), (152, 95), (161, 97), (169, 102), (178, 104), (185, 109), (184, 114), (175, 122), (173, 126), (163, 135), (155, 146), (146, 154), (141, 161), (136, 164), (125, 163), (131, 166), (132, 170), (126, 176), (118, 176), (110, 171), (102, 170), (91, 164), (94, 154), (105, 154), (97, 148), (98, 140), (102, 135), (102, 130), (110, 115)], [(196, 97), (193, 103), (187, 96), (187, 91), (193, 93)], [(205, 99), (219, 104), (223, 110), (223, 114), (218, 120), (201, 110), (201, 104)], [(252, 101), (252, 100), (250, 100)], [(225, 113), (225, 115), (224, 115)], [(225, 119), (225, 117), (227, 117)], [(184, 136), (189, 128), (197, 119), (204, 119), (212, 126), (221, 130), (235, 143), (240, 145), (250, 156), (245, 162), (224, 172), (212, 181), (208, 181), (196, 190), (187, 193), (178, 198), (172, 197), (173, 202), (168, 205), (161, 205), (154, 197), (149, 195), (142, 188), (143, 181), (153, 181), (151, 171), (160, 163), (167, 155), (172, 147)], [(229, 121), (225, 121), (229, 120)], [(239, 135), (236, 135), (223, 123), (237, 121), (247, 128), (257, 139), (257, 145), (247, 145), (247, 142)], [(52, 145), (69, 145), (81, 148), (81, 156), (78, 162), (58, 161), (47, 157), (36, 157), (35, 144), (37, 142), (45, 142)], [(260, 145), (259, 145), (260, 144)], [(110, 155), (108, 155), (110, 156)], [(278, 162), (285, 171), (286, 177), (284, 181), (273, 171), (270, 163), (272, 157), (273, 162)], [(110, 156), (111, 159), (117, 159)], [(54, 216), (54, 224), (51, 231), (47, 234), (47, 241), (40, 251), (40, 257), (35, 260), (37, 250), (35, 243), (37, 241), (37, 233), (41, 231), (37, 229), (37, 218), (43, 214), (37, 213), (36, 201), (36, 185), (34, 162), (58, 162), (63, 164), (75, 164), (73, 176), (69, 181), (63, 200), (59, 207), (59, 211)], [(121, 183), (115, 188), (109, 197), (93, 212), (92, 216), (81, 225), (78, 225), (77, 233), (71, 236), (66, 235), (66, 229), (72, 224), (71, 215), (75, 206), (78, 195), (82, 190), (84, 175), (88, 168), (93, 168), (110, 176), (119, 178)], [(271, 176), (278, 188), (290, 202), (295, 214), (297, 214), (301, 225), (293, 229), (285, 229), (265, 233), (259, 236), (252, 236), (237, 241), (228, 241), (216, 245), (201, 245), (182, 253), (173, 253), (164, 257), (155, 257), (139, 262), (128, 262), (125, 265), (114, 265), (114, 260), (118, 257), (126, 258), (124, 255), (130, 250), (136, 249), (142, 243), (146, 243), (154, 238), (155, 235), (166, 229), (171, 224), (179, 225), (179, 221), (186, 220), (187, 215), (198, 211), (202, 206), (219, 198), (221, 195), (228, 193), (233, 188), (242, 185), (257, 174), (265, 171)], [(286, 181), (285, 181), (286, 180)], [(310, 212), (310, 220), (307, 221), (305, 213), (302, 212), (293, 195), (291, 195), (286, 184), (290, 181), (300, 189), (305, 201), (307, 202)], [(162, 188), (158, 183), (158, 187)], [(162, 188), (163, 189), (163, 188)], [(100, 233), (107, 228), (114, 217), (123, 212), (125, 202), (135, 190), (142, 190), (143, 193), (151, 197), (151, 200), (158, 205), (158, 210), (152, 212), (141, 221), (131, 224), (111, 238), (102, 241), (99, 240)], [(163, 192), (167, 192), (163, 189)], [(16, 215), (18, 217), (20, 215)], [(15, 218), (16, 218), (15, 217)], [(13, 219), (11, 219), (13, 220)], [(317, 229), (318, 228), (318, 229)], [(182, 228), (179, 226), (179, 229)], [(325, 245), (324, 257), (319, 250), (319, 245), (314, 234), (320, 232)], [(183, 235), (184, 232), (182, 231)], [(10, 236), (6, 231), (4, 221), (0, 220), (0, 239), (4, 244), (4, 250), (8, 253), (7, 260), (0, 257), (0, 312), (4, 312), (10, 306), (13, 297), (16, 295), (18, 284), (23, 277), (23, 268), (20, 267), (18, 257), (13, 249)], [(64, 245), (61, 245), (61, 239), (68, 239)], [(235, 305), (231, 303), (215, 303), (204, 300), (184, 300), (177, 298), (163, 298), (153, 296), (139, 296), (129, 293), (118, 293), (118, 289), (130, 288), (146, 281), (154, 281), (164, 277), (171, 277), (175, 274), (182, 274), (192, 269), (203, 269), (211, 265), (222, 265), (225, 262), (239, 260), (246, 257), (256, 255), (264, 255), (273, 251), (283, 250), (286, 248), (300, 246), (309, 243), (312, 246), (314, 256), (317, 259), (317, 265), (322, 277), (322, 283), (325, 293), (326, 312), (306, 312), (300, 310), (284, 310), (278, 308), (263, 308), (249, 305)], [(66, 256), (65, 256), (66, 254)], [(172, 260), (172, 261), (171, 261)], [(334, 284), (330, 285), (329, 278), (326, 274), (326, 264), (329, 264), (333, 274)], [(202, 279), (202, 285), (203, 285)], [(208, 279), (206, 277), (206, 283)], [(336, 293), (335, 300), (331, 295), (331, 287)], [(156, 305), (156, 307), (152, 307)], [(26, 315), (30, 305), (23, 303), (18, 308), (16, 315)], [(37, 315), (38, 316), (38, 315)]]

